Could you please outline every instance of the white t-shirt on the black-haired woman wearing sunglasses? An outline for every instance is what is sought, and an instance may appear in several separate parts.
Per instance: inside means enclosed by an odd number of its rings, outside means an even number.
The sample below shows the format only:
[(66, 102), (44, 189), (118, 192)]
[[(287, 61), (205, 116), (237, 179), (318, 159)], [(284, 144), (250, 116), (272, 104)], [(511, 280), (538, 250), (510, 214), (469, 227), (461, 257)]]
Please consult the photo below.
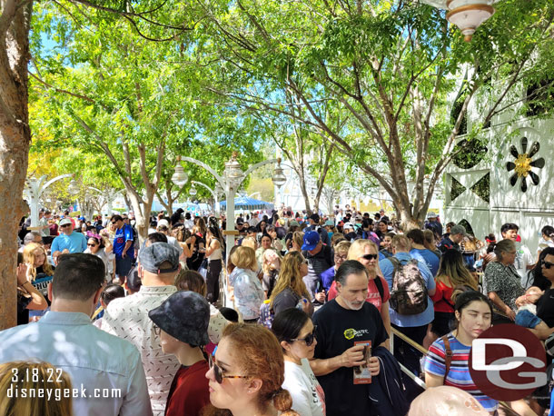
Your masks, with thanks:
[(305, 358), (302, 365), (284, 362), (282, 388), (292, 396), (292, 410), (302, 416), (325, 416), (325, 393)]

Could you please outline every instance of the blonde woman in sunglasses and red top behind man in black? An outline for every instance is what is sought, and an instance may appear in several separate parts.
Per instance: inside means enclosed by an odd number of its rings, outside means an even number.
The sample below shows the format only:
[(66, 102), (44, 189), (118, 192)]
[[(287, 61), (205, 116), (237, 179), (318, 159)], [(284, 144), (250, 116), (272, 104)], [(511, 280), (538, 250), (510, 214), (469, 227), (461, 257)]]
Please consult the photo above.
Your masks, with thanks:
[[(385, 325), (385, 329), (387, 333), (391, 335), (391, 316), (389, 315), (389, 299), (391, 299), (391, 292), (389, 291), (389, 285), (383, 278), (381, 268), (379, 267), (377, 244), (370, 240), (355, 240), (348, 250), (347, 260), (357, 260), (361, 262), (368, 271), (370, 282), (368, 283), (368, 297), (366, 298), (366, 302), (372, 303), (379, 312), (381, 312), (381, 319)], [(381, 288), (378, 287), (378, 279), (381, 281)], [(332, 282), (331, 289), (329, 289), (328, 300), (331, 301), (331, 299), (336, 297), (336, 282)], [(389, 340), (386, 342), (388, 344)]]

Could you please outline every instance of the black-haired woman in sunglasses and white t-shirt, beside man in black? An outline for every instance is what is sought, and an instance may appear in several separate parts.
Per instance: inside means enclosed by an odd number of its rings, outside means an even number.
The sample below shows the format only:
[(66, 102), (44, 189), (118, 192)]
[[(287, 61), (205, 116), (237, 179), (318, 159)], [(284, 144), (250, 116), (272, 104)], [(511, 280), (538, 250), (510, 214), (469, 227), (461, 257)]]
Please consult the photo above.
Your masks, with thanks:
[(282, 388), (291, 392), (292, 409), (302, 416), (324, 416), (325, 393), (308, 362), (317, 345), (312, 320), (299, 309), (287, 309), (275, 315), (272, 332), (281, 342), (284, 355)]

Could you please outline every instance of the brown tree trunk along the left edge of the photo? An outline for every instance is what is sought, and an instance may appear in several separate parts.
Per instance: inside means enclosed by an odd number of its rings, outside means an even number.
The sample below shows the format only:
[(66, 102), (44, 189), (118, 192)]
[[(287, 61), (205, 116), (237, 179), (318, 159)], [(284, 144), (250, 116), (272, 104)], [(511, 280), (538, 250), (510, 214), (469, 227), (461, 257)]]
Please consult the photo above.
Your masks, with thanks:
[(29, 27), (33, 2), (0, 0), (0, 330), (15, 326), (17, 226), (28, 213), (22, 196), (29, 128)]

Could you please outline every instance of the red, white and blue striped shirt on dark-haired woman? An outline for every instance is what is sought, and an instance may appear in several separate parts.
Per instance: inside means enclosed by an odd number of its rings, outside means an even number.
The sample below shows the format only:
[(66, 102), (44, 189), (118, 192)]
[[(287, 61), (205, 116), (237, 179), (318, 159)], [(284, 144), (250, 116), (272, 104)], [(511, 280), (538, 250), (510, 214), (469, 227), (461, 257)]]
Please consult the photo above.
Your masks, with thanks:
[[(462, 344), (452, 332), (448, 334), (450, 350), (452, 351), (452, 361), (450, 362), (450, 371), (444, 380), (445, 386), (458, 387), (463, 391), (469, 392), (487, 411), (495, 411), (498, 408), (498, 401), (490, 399), (477, 389), (477, 386), (471, 380), (470, 360), (471, 347)], [(425, 372), (444, 377), (446, 371), (446, 349), (441, 338), (433, 342), (429, 348), (429, 353), (425, 359)]]

